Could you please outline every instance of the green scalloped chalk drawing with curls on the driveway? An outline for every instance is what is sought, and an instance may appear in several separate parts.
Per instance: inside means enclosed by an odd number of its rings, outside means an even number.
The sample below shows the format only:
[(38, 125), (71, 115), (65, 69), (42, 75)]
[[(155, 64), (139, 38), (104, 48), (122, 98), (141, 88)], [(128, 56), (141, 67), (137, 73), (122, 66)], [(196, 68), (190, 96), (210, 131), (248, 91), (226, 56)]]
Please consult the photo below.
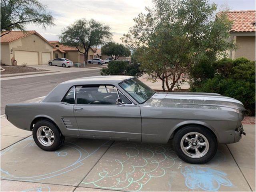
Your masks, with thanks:
[[(111, 190), (140, 191), (150, 180), (166, 175), (175, 164), (175, 152), (163, 145), (117, 143), (110, 147), (113, 166), (98, 169), (98, 175), (87, 177), (82, 184)], [(114, 159), (114, 156), (117, 157)], [(102, 162), (100, 162), (101, 164)], [(168, 183), (169, 188), (171, 183)]]

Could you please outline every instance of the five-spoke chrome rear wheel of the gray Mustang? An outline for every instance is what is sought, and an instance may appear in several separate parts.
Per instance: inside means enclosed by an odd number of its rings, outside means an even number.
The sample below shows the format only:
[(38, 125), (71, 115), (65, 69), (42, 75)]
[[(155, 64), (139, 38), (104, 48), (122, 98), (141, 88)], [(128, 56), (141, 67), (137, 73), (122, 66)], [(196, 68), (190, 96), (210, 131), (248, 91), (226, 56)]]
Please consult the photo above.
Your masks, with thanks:
[(41, 126), (36, 131), (37, 140), (43, 146), (51, 146), (54, 143), (54, 133), (53, 131), (47, 126)]

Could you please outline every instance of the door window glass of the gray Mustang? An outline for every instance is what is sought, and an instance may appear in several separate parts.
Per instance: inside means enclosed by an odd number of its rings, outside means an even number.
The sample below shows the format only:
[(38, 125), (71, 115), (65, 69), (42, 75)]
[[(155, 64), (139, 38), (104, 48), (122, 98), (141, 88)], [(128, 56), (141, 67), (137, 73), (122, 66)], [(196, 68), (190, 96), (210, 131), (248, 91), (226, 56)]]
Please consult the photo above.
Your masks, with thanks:
[(77, 104), (116, 105), (118, 94), (114, 86), (76, 87)]

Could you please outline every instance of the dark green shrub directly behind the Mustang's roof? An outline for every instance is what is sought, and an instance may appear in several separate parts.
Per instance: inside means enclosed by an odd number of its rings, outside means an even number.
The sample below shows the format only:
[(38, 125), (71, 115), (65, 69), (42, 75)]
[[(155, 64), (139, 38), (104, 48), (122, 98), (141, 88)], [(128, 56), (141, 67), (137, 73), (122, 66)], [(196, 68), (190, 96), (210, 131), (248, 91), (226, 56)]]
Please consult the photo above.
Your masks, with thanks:
[(129, 75), (141, 76), (139, 64), (129, 64), (126, 61), (111, 61), (108, 63), (108, 68), (103, 68), (100, 71), (101, 75)]

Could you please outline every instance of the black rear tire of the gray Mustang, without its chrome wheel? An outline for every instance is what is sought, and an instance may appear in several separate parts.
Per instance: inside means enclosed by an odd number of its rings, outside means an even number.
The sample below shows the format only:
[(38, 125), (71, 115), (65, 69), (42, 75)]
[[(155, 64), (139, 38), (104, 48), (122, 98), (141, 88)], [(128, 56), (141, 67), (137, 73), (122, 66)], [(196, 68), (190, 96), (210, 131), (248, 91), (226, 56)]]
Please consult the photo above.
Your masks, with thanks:
[[(51, 145), (51, 146), (43, 146), (42, 144), (40, 144), (40, 142), (38, 141), (37, 139), (37, 136), (36, 136), (36, 132), (38, 130), (38, 128), (40, 128), (41, 126), (47, 126), (49, 127), (52, 132), (54, 133), (54, 143)], [(42, 120), (42, 121), (39, 121), (37, 122), (34, 127), (33, 127), (33, 130), (32, 130), (32, 134), (33, 134), (33, 138), (34, 138), (34, 141), (36, 143), (36, 145), (38, 147), (40, 147), (41, 149), (43, 150), (46, 150), (46, 151), (55, 151), (57, 150), (58, 148), (60, 148), (61, 144), (62, 144), (62, 134), (61, 132), (58, 130), (58, 128), (50, 121), (47, 121), (47, 120)]]

